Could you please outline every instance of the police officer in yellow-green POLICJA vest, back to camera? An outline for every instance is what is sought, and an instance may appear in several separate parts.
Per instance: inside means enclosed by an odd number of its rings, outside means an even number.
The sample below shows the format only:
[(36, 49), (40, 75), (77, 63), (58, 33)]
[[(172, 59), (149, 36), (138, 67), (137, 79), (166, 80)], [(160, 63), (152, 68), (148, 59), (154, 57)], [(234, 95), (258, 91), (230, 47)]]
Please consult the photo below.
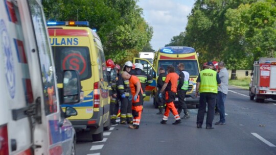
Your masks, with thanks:
[(208, 112), (206, 118), (206, 129), (214, 128), (212, 123), (214, 120), (216, 95), (218, 93), (218, 86), (220, 86), (219, 75), (214, 71), (213, 63), (207, 63), (207, 69), (201, 70), (196, 80), (196, 96), (199, 96), (199, 108), (197, 112), (197, 128), (202, 128), (204, 113), (206, 109), (206, 102), (208, 104)]

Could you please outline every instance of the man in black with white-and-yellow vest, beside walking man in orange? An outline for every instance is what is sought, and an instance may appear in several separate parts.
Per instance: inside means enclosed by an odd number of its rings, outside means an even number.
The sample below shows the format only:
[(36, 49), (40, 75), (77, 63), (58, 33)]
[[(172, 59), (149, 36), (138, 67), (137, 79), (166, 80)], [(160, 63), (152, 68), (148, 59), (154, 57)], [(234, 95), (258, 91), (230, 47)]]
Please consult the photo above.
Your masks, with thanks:
[(190, 114), (185, 102), (185, 96), (189, 87), (189, 78), (190, 78), (190, 74), (189, 72), (185, 71), (185, 66), (183, 63), (179, 63), (177, 65), (178, 70), (180, 71), (179, 73), (179, 83), (177, 85), (177, 95), (178, 95), (178, 99), (179, 99), (179, 105), (178, 105), (178, 114), (180, 117), (180, 113), (182, 111), (182, 109), (184, 110), (184, 116), (181, 119), (188, 119), (190, 118)]

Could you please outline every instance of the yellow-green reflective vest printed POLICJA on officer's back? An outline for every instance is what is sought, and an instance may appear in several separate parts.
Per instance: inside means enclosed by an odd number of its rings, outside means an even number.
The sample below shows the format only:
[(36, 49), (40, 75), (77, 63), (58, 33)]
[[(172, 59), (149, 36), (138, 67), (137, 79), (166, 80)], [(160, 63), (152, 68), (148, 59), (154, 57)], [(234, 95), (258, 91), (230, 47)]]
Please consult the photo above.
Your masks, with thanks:
[(200, 93), (218, 93), (217, 72), (212, 69), (200, 71)]

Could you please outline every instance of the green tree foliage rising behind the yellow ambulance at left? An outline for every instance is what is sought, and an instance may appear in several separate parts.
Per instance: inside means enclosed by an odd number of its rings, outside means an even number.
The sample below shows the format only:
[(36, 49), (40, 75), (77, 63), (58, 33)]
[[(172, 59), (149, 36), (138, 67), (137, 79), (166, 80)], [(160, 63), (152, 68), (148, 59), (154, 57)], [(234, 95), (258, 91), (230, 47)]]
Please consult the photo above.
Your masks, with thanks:
[(89, 21), (89, 27), (97, 29), (106, 59), (116, 63), (151, 48), (153, 30), (135, 0), (49, 0), (43, 1), (43, 7), (47, 20)]

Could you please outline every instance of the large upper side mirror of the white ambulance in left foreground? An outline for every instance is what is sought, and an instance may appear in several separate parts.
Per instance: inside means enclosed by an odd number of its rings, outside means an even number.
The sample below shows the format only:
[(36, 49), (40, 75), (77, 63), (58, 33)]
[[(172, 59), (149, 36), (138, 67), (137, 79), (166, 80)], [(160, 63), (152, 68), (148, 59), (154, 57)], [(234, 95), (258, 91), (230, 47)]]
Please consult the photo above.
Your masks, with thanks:
[(80, 76), (77, 70), (64, 70), (63, 72), (62, 104), (76, 104), (83, 99)]

